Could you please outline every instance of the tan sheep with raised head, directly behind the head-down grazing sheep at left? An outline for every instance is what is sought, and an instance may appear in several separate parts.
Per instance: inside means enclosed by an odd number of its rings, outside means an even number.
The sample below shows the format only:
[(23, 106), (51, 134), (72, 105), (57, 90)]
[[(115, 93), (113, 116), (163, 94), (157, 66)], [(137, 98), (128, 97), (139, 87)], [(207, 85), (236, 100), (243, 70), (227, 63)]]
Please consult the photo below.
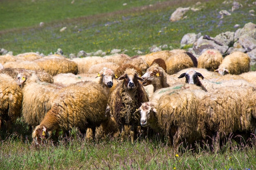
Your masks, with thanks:
[(35, 127), (51, 109), (53, 97), (64, 85), (40, 82), (37, 75), (30, 72), (19, 73), (17, 81), (23, 94), (22, 117), (27, 124)]

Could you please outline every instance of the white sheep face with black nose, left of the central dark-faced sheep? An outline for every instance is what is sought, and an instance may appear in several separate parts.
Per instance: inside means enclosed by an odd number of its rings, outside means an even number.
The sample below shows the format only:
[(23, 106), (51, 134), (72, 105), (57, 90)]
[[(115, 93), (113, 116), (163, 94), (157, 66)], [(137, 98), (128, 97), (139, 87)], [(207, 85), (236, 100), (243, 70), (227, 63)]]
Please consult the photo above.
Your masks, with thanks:
[(98, 74), (97, 77), (102, 76), (102, 85), (105, 85), (109, 88), (113, 86), (113, 78), (117, 78), (114, 71), (110, 68), (103, 68), (103, 70)]

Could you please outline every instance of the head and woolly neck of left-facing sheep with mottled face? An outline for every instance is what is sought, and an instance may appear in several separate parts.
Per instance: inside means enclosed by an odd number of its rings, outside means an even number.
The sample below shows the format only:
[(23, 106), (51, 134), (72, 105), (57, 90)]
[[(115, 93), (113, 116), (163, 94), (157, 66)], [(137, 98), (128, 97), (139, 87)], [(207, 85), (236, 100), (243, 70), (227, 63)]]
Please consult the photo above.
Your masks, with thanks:
[(143, 86), (153, 84), (154, 92), (160, 88), (169, 87), (167, 83), (167, 74), (162, 67), (157, 63), (153, 63), (148, 69), (147, 72), (141, 77), (144, 79), (142, 81)]

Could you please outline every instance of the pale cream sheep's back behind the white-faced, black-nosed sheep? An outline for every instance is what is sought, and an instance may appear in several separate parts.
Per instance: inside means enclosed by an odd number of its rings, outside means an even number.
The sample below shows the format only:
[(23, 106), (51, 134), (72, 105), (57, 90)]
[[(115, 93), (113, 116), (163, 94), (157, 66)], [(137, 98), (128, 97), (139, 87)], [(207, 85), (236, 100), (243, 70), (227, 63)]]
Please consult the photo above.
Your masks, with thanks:
[(98, 56), (90, 56), (90, 57), (84, 57), (84, 58), (73, 58), (70, 61), (73, 61), (77, 64), (79, 74), (88, 73), (89, 68), (95, 64), (108, 62), (108, 60), (106, 58), (98, 57)]

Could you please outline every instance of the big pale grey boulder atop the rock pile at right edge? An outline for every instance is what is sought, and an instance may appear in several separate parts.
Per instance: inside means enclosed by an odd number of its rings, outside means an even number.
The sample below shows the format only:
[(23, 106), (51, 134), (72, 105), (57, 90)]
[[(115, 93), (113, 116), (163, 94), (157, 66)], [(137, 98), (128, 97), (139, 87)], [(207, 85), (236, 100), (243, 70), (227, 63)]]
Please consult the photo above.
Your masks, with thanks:
[(249, 22), (241, 29), (236, 30), (234, 41), (236, 42), (241, 35), (247, 34), (249, 37), (256, 39), (256, 24)]

